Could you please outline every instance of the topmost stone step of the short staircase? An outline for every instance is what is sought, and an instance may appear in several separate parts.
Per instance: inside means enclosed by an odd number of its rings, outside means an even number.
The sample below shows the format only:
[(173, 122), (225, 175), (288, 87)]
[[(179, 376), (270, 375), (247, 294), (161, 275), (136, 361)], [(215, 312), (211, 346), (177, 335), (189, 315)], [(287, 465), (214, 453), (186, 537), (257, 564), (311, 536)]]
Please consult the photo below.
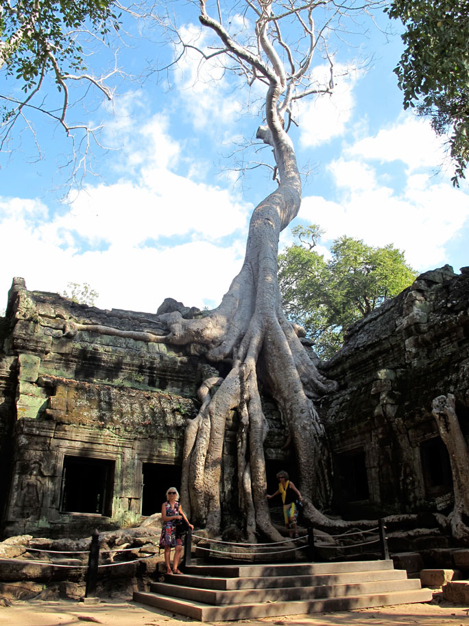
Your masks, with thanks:
[(296, 576), (311, 574), (335, 574), (341, 572), (364, 572), (369, 570), (391, 570), (391, 559), (383, 561), (337, 561), (335, 563), (277, 563), (267, 565), (189, 565), (187, 574), (223, 578)]

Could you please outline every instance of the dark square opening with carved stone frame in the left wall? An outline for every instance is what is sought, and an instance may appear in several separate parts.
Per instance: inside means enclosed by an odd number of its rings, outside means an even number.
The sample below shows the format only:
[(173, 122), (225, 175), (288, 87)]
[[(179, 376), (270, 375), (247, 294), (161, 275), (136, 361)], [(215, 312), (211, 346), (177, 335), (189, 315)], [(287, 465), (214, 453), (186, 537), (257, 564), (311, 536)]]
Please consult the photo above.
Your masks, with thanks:
[(112, 515), (115, 461), (65, 456), (60, 511)]

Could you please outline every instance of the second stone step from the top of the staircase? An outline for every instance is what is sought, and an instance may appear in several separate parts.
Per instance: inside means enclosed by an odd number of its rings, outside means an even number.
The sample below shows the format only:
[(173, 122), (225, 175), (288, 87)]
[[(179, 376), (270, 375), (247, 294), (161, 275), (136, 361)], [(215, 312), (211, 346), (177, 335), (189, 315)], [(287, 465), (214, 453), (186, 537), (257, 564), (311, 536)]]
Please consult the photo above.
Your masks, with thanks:
[(339, 572), (333, 574), (311, 574), (298, 576), (265, 576), (242, 578), (215, 578), (199, 575), (166, 575), (165, 581), (186, 587), (201, 589), (232, 590), (232, 589), (265, 589), (274, 587), (314, 587), (339, 583), (364, 583), (376, 580), (406, 579), (405, 570), (366, 570), (363, 572)]

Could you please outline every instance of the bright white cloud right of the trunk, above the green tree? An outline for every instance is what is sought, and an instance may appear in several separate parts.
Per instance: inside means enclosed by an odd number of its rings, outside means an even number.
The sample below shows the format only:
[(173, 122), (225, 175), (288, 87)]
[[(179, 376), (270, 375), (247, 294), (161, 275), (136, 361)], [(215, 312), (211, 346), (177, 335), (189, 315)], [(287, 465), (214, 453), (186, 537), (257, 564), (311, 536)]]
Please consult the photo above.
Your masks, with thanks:
[(379, 186), (369, 170), (364, 167), (362, 176), (345, 187), (344, 172), (360, 175), (360, 168), (344, 159), (333, 163), (341, 201), (306, 197), (299, 217), (326, 230), (323, 242), (348, 235), (372, 246), (394, 244), (417, 270), (446, 263), (446, 247), (469, 218), (468, 195), (430, 174), (410, 176), (405, 189), (395, 192)]

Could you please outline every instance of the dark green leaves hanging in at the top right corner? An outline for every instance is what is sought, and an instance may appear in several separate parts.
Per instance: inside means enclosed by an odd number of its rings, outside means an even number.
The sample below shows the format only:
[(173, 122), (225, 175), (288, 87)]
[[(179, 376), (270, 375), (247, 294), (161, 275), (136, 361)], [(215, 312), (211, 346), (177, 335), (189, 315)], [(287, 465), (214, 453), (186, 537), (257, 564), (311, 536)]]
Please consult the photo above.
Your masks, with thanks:
[(430, 116), (437, 135), (450, 132), (459, 187), (469, 159), (469, 0), (394, 0), (387, 13), (406, 29), (394, 70), (404, 108)]

